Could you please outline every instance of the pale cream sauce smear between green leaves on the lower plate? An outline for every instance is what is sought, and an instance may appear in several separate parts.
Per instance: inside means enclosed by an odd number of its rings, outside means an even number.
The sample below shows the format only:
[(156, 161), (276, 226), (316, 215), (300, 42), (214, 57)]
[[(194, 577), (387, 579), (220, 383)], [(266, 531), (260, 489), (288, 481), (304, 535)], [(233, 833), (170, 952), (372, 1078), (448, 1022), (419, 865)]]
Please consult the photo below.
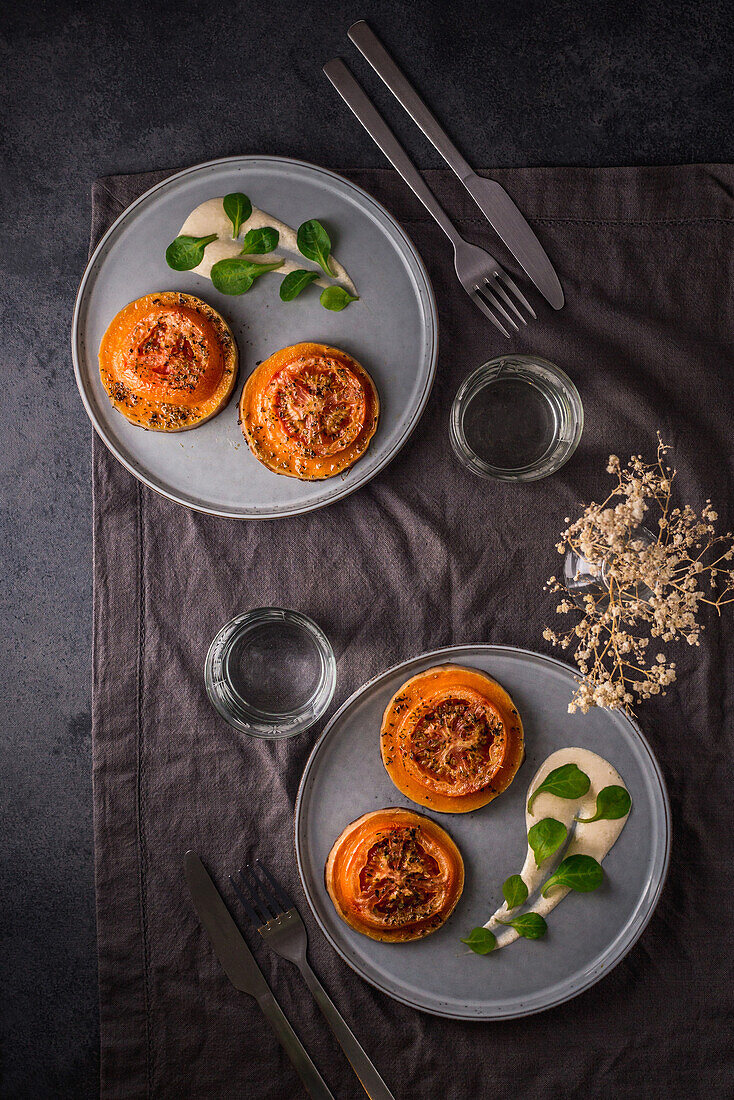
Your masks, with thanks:
[[(527, 803), (533, 792), (549, 772), (554, 771), (555, 768), (560, 768), (565, 763), (574, 763), (581, 771), (587, 773), (591, 780), (588, 792), (581, 799), (561, 799), (557, 794), (543, 791), (533, 803), (533, 812), (528, 813)], [(555, 817), (556, 821), (566, 825), (567, 829), (571, 828), (574, 824), (573, 818), (577, 814), (579, 817), (593, 817), (596, 810), (596, 795), (602, 788), (611, 785), (624, 787), (622, 777), (609, 761), (596, 756), (595, 752), (590, 752), (589, 749), (559, 749), (557, 752), (551, 752), (548, 759), (538, 768), (528, 788), (525, 799), (525, 832), (527, 833), (533, 825), (537, 825), (544, 817)], [(628, 816), (627, 814), (627, 816), (620, 817), (617, 821), (598, 821), (588, 824), (576, 822), (576, 829), (568, 848), (563, 853), (563, 858), (581, 854), (593, 856), (601, 864), (614, 846)], [(540, 867), (537, 867), (535, 853), (528, 845), (525, 864), (521, 871), (521, 878), (527, 887), (528, 897), (532, 898), (540, 889), (546, 879), (549, 878), (552, 866), (554, 860), (549, 858), (544, 860)], [(550, 891), (548, 898), (538, 897), (529, 912), (539, 913), (544, 917), (547, 916), (559, 901), (563, 900), (568, 892), (567, 887), (558, 887)], [(521, 908), (518, 905), (516, 909), (510, 909), (505, 902), (492, 914), (484, 925), (485, 928), (491, 928), (497, 937), (497, 948), (506, 947), (518, 938), (518, 933), (514, 928), (507, 928), (499, 924), (497, 921), (510, 920)]]

